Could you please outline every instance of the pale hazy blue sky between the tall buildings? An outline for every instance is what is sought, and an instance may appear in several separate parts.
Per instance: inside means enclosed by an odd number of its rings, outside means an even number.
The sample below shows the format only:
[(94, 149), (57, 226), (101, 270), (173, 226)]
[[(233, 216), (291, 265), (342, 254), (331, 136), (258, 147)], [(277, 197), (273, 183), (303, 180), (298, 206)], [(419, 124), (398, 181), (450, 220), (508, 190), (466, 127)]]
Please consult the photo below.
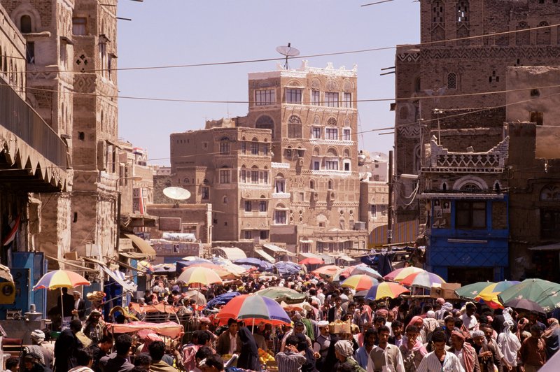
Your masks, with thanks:
[[(302, 56), (419, 43), (419, 2), (394, 0), (120, 0), (118, 17), (119, 137), (148, 150), (151, 164), (169, 165), (169, 134), (204, 129), (205, 120), (244, 116), (247, 74), (274, 71), (279, 61), (169, 69), (134, 69), (281, 58), (279, 45)], [(302, 58), (303, 59), (303, 58)], [(290, 59), (299, 68), (302, 59)], [(358, 100), (392, 99), (395, 49), (304, 58), (309, 66), (358, 66)], [(391, 70), (389, 70), (391, 71)], [(153, 99), (242, 101), (186, 103)], [(385, 152), (393, 135), (391, 101), (358, 102), (358, 148)], [(385, 131), (387, 132), (387, 131)], [(381, 131), (384, 133), (384, 131)]]

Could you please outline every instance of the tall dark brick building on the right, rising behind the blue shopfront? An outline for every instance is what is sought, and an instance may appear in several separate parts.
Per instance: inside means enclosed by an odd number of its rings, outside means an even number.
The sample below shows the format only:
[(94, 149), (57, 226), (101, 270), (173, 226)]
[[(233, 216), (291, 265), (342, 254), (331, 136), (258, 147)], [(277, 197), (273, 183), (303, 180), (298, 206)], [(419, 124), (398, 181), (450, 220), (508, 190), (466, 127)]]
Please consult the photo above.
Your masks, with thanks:
[[(505, 93), (478, 93), (503, 92), (508, 66), (560, 63), (559, 29), (546, 27), (560, 23), (555, 1), (435, 0), (420, 6), (423, 45), (400, 45), (395, 58), (397, 178), (419, 174), (433, 135), (451, 152), (493, 148), (502, 140)], [(543, 28), (522, 31), (535, 27)], [(519, 32), (455, 40), (507, 31)], [(415, 185), (403, 180), (395, 191), (397, 221), (422, 215), (423, 203), (398, 197), (413, 194)]]

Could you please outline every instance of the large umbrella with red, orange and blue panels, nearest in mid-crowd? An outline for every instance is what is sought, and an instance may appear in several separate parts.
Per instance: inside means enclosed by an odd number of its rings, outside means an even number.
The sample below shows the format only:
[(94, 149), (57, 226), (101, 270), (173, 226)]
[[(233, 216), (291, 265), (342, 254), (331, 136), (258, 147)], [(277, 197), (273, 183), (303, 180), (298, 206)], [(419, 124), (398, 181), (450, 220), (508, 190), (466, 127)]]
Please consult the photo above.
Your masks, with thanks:
[(241, 294), (226, 303), (217, 319), (242, 319), (258, 323), (290, 324), (292, 320), (280, 304), (258, 294)]

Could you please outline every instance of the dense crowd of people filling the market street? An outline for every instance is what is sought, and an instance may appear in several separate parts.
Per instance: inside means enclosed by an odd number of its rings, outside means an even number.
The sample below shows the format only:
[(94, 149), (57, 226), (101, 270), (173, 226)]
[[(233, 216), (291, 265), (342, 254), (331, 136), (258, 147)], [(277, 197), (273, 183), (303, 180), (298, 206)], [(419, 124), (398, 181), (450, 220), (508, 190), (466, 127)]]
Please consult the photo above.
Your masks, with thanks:
[[(305, 300), (287, 308), (291, 324), (227, 323), (216, 319), (224, 295), (288, 287)], [(69, 327), (54, 348), (43, 331), (6, 369), (24, 372), (172, 371), (351, 371), (351, 372), (533, 372), (560, 347), (556, 313), (492, 310), (481, 303), (406, 297), (370, 301), (349, 288), (307, 274), (284, 278), (249, 275), (197, 289), (211, 306), (186, 296), (166, 277), (125, 309), (85, 315), (79, 293)], [(144, 308), (165, 303), (173, 311)], [(84, 313), (80, 313), (84, 310)], [(169, 338), (155, 332), (113, 334), (107, 322), (175, 320), (184, 332)], [(559, 367), (560, 368), (560, 367)]]

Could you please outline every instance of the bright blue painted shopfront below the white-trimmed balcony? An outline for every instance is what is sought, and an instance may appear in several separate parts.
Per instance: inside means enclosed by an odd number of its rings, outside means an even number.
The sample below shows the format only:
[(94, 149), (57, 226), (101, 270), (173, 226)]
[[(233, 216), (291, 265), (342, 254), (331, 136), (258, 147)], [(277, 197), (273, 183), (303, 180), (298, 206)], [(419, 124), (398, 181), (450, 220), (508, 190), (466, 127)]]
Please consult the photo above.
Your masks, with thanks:
[[(505, 216), (500, 217), (501, 228), (493, 228), (497, 224), (493, 224), (493, 205), (494, 203), (503, 204), (504, 201), (506, 208)], [(481, 229), (456, 228), (458, 202), (461, 202), (461, 199), (450, 201), (451, 217), (447, 228), (432, 227), (428, 230), (426, 269), (437, 273), (445, 280), (461, 280), (457, 278), (461, 278), (462, 271), (470, 273), (469, 279), (463, 278), (462, 280), (472, 280), (472, 278), (504, 280), (508, 266), (510, 233), (507, 195), (500, 200), (477, 200), (477, 202), (486, 203), (486, 224)], [(434, 216), (435, 213), (431, 215)], [(503, 229), (504, 218), (505, 229)], [(432, 218), (433, 223), (434, 218)]]

